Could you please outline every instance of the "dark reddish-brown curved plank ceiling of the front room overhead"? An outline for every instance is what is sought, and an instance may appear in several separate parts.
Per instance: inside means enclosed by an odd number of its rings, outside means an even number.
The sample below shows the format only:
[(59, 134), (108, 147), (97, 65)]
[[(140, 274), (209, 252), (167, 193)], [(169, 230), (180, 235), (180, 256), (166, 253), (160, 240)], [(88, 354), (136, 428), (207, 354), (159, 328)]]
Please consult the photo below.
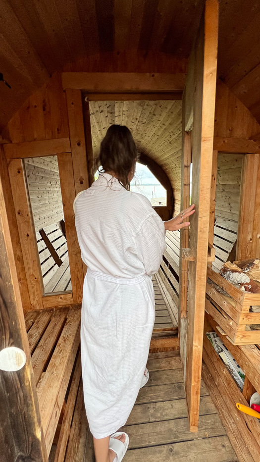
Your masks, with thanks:
[[(0, 72), (12, 88), (0, 82), (0, 128), (54, 71), (80, 59), (85, 71), (131, 72), (132, 66), (133, 72), (171, 72), (174, 57), (177, 71), (185, 72), (203, 5), (204, 0), (2, 0)], [(259, 20), (259, 0), (220, 0), (218, 74), (260, 121)], [(132, 61), (133, 50), (142, 62), (150, 56), (155, 69), (142, 70)]]

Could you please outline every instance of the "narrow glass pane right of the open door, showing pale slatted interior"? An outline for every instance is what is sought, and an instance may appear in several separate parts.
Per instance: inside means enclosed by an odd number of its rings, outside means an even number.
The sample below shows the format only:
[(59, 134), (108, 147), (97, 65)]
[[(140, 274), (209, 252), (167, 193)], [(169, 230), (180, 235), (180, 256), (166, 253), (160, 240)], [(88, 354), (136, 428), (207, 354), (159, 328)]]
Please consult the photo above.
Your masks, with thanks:
[(217, 154), (215, 225), (213, 246), (219, 271), (237, 240), (242, 161), (245, 154)]

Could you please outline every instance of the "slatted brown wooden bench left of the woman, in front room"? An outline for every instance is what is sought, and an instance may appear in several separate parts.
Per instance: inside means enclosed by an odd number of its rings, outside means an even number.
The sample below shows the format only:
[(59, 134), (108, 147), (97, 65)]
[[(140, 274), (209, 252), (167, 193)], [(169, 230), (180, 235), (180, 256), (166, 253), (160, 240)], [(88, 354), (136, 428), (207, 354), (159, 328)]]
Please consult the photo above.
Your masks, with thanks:
[[(80, 316), (79, 305), (56, 310), (34, 310), (25, 314), (48, 456), (57, 429), (58, 452), (66, 450), (70, 434), (81, 377)], [(58, 452), (57, 461), (61, 460)]]

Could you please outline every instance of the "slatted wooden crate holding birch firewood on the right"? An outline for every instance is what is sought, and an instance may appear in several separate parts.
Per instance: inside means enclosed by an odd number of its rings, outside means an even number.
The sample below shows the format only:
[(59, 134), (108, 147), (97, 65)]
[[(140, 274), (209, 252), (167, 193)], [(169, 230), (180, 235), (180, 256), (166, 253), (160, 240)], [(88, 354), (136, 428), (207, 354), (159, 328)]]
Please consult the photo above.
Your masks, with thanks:
[(247, 330), (251, 324), (260, 324), (260, 313), (249, 312), (252, 305), (260, 305), (260, 294), (237, 289), (210, 268), (208, 278), (229, 295), (219, 293), (207, 283), (205, 308), (222, 329), (222, 334), (224, 331), (234, 345), (260, 343), (260, 330)]

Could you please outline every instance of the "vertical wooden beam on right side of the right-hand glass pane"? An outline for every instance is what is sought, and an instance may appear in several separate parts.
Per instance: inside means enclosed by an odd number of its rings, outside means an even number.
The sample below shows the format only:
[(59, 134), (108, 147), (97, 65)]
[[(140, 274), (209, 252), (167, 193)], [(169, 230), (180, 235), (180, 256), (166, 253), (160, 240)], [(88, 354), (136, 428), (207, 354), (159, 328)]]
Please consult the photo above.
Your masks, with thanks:
[(257, 192), (259, 192), (258, 176), (260, 154), (247, 154), (244, 156), (241, 175), (240, 210), (237, 235), (236, 259), (257, 257), (258, 230), (255, 225)]

